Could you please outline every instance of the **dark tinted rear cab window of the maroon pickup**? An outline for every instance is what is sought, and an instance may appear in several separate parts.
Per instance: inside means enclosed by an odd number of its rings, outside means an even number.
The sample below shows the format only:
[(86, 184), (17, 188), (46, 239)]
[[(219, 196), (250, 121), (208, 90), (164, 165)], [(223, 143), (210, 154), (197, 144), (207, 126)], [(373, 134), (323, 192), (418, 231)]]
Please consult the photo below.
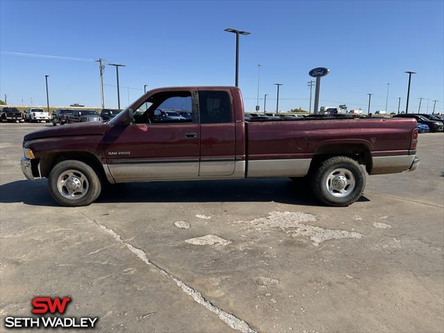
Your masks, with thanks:
[(231, 103), (227, 92), (199, 91), (200, 123), (230, 123)]

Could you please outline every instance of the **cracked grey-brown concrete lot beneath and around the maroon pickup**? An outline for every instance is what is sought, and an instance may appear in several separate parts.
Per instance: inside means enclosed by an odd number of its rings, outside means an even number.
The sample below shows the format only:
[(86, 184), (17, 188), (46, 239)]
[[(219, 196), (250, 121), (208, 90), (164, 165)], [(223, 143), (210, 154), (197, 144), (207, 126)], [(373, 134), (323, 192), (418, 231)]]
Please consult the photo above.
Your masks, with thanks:
[(65, 316), (97, 332), (444, 332), (443, 133), (350, 207), (275, 178), (116, 185), (68, 208), (20, 170), (44, 126), (0, 124), (0, 331), (69, 295)]

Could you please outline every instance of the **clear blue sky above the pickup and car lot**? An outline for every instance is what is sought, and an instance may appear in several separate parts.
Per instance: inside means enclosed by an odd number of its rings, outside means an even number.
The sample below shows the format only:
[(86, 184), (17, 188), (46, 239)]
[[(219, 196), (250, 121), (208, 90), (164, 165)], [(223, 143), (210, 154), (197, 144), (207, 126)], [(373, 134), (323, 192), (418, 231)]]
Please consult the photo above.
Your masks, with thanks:
[[(327, 67), (320, 105), (444, 112), (444, 1), (7, 1), (0, 0), (0, 96), (8, 103), (100, 105), (96, 58), (119, 71), (121, 105), (151, 87), (234, 85), (234, 34), (241, 36), (239, 87), (247, 110), (308, 109), (309, 69)], [(19, 56), (31, 53), (83, 58)], [(114, 67), (105, 69), (105, 105), (117, 106)], [(129, 95), (129, 98), (128, 98)]]

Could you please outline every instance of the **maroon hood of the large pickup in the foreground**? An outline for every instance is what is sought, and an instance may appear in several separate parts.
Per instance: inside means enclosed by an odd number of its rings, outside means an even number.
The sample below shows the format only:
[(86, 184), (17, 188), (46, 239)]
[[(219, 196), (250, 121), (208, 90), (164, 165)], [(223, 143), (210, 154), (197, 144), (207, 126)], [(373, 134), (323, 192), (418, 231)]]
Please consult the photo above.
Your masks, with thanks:
[(64, 126), (36, 130), (24, 136), (24, 142), (45, 137), (71, 137), (74, 135), (103, 135), (108, 129), (106, 123), (99, 121), (89, 123), (72, 123)]

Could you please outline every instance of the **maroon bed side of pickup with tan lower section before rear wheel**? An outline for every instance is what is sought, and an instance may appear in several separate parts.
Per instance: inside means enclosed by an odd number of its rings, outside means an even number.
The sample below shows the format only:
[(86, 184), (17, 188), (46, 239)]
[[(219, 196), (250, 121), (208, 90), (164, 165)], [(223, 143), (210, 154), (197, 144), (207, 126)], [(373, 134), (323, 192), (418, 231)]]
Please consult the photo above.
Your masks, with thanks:
[[(378, 173), (379, 156), (411, 155), (414, 119), (295, 119), (248, 121), (247, 176), (305, 176), (316, 155), (337, 153), (375, 160), (369, 173)], [(414, 155), (414, 153), (413, 153)]]

